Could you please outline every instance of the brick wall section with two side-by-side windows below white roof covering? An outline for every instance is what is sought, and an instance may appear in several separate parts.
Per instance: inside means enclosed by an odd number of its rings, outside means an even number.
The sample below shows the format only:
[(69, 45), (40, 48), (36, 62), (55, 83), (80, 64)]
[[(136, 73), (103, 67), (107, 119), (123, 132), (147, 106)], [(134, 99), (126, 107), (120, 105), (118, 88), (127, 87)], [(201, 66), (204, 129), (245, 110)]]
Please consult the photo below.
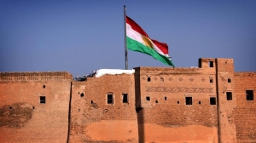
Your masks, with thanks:
[(125, 74), (73, 82), (70, 142), (138, 142), (134, 89), (134, 76)]

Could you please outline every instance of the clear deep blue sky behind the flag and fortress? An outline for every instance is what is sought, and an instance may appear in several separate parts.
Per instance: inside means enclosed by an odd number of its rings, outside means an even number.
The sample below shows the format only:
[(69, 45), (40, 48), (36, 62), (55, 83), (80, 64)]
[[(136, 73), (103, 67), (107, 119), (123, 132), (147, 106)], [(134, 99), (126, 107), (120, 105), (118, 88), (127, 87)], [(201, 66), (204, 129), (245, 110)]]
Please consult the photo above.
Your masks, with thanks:
[[(0, 0), (0, 72), (67, 71), (81, 76), (125, 69), (124, 15), (169, 45), (177, 67), (233, 58), (256, 72), (256, 1)], [(128, 51), (129, 69), (166, 66)]]

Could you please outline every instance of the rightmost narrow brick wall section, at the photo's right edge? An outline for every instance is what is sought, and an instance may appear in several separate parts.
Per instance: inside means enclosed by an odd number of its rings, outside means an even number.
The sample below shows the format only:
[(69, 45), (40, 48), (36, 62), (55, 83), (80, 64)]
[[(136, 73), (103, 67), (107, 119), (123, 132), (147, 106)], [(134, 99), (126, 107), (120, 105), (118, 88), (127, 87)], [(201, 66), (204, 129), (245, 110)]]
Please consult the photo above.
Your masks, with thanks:
[[(235, 72), (237, 142), (256, 142), (256, 72)], [(247, 99), (247, 90), (253, 99)]]

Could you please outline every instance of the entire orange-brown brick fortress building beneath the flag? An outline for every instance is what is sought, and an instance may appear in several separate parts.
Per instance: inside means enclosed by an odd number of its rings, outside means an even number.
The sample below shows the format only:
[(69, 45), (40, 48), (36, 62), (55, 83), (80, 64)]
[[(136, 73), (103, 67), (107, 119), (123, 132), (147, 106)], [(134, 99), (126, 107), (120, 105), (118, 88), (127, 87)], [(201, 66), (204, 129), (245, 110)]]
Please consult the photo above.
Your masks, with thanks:
[(0, 142), (256, 142), (256, 72), (212, 58), (129, 72), (0, 73)]

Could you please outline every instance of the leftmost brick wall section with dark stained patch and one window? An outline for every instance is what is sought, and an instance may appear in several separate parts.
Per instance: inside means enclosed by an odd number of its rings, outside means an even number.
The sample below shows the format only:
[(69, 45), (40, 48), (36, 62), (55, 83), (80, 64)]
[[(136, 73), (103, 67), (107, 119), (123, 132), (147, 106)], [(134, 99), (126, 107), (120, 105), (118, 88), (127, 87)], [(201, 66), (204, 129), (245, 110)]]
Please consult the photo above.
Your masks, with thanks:
[(71, 74), (3, 72), (0, 79), (1, 143), (67, 141)]

